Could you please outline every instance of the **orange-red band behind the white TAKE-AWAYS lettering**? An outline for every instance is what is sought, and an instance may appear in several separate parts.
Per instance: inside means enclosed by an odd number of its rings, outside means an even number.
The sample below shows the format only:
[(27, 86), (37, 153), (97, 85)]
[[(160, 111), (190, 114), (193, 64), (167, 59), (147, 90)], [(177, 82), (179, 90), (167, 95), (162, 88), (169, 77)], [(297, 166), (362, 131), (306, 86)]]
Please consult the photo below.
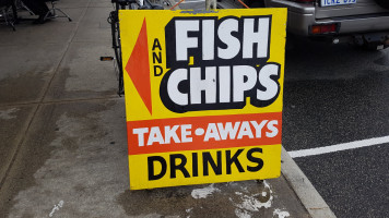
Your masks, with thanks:
[[(257, 130), (255, 129), (251, 121), (256, 121), (257, 124), (260, 124), (261, 122), (266, 123), (264, 126), (261, 129), (261, 131), (258, 131), (258, 133), (261, 134), (261, 137), (257, 137)], [(270, 126), (271, 121), (273, 123), (273, 126), (278, 130), (276, 135), (271, 135), (271, 133), (274, 133), (273, 132), (274, 128), (272, 129)], [(208, 142), (204, 142), (205, 133), (202, 135), (196, 134), (196, 130), (198, 129), (203, 129), (204, 132), (207, 132), (207, 129), (211, 125), (219, 126), (216, 123), (221, 123), (224, 129), (227, 122), (231, 122), (232, 126), (235, 125), (237, 126), (237, 133), (235, 135), (235, 138), (231, 138), (229, 136), (227, 136), (225, 140), (223, 140), (221, 131), (219, 129), (216, 129), (214, 136), (219, 136), (220, 141), (217, 141), (217, 138), (215, 140), (214, 137), (211, 137)], [(275, 122), (276, 124), (274, 124)], [(175, 142), (174, 137), (170, 137), (170, 143), (167, 143), (165, 136), (165, 128), (168, 126), (172, 130), (174, 129), (175, 125), (179, 125), (176, 126), (177, 131), (175, 131), (179, 142)], [(182, 142), (181, 125), (191, 125), (191, 129), (190, 130), (187, 129), (186, 131), (188, 132), (187, 138), (191, 137), (192, 142)], [(246, 129), (244, 126), (246, 126)], [(139, 154), (167, 153), (167, 152), (179, 152), (179, 150), (199, 150), (199, 149), (281, 144), (281, 126), (282, 126), (281, 112), (129, 121), (127, 122), (128, 153), (129, 155), (139, 155)], [(144, 128), (146, 128), (146, 133), (135, 134), (137, 131)], [(153, 131), (151, 130), (152, 128)], [(154, 134), (152, 134), (154, 136), (158, 135), (158, 133), (161, 132), (163, 138), (160, 137), (160, 140), (154, 140), (153, 142), (153, 140), (149, 138), (151, 132), (154, 132)], [(243, 134), (243, 133), (249, 134), (250, 132), (252, 133), (254, 138), (250, 138), (248, 135)], [(239, 134), (243, 134), (243, 136), (240, 135), (241, 138), (237, 138)], [(144, 138), (143, 146), (140, 146), (140, 135), (143, 135)], [(149, 141), (151, 145), (148, 145)]]

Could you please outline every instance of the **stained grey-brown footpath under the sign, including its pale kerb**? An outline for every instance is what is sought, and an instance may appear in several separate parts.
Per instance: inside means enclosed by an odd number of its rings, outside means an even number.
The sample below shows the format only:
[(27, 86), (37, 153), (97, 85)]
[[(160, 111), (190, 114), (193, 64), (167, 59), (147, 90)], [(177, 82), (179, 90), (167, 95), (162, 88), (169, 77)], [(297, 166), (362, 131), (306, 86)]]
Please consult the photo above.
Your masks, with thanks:
[(286, 153), (282, 175), (262, 183), (130, 191), (125, 101), (113, 62), (99, 61), (113, 56), (113, 7), (58, 8), (73, 22), (0, 26), (0, 217), (332, 215)]

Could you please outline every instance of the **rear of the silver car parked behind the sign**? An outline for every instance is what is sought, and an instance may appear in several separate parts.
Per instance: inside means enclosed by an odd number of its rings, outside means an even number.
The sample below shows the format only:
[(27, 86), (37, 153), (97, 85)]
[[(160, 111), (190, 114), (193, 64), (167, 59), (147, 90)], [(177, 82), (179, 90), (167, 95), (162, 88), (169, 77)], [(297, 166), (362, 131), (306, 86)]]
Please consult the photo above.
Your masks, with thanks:
[[(222, 0), (236, 1), (236, 0)], [(246, 0), (252, 8), (287, 8), (287, 32), (333, 44), (389, 46), (389, 0)], [(223, 3), (222, 3), (223, 4)], [(221, 7), (223, 8), (223, 7)]]

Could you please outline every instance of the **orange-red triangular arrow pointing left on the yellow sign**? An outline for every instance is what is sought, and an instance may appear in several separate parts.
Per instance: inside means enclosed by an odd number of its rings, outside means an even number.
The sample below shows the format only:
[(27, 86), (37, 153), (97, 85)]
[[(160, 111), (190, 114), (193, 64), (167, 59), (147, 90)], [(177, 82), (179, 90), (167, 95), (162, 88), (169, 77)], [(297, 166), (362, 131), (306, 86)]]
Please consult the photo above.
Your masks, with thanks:
[(145, 19), (143, 20), (142, 28), (138, 35), (130, 59), (127, 62), (126, 71), (132, 80), (143, 104), (146, 106), (150, 114), (152, 114), (148, 29)]

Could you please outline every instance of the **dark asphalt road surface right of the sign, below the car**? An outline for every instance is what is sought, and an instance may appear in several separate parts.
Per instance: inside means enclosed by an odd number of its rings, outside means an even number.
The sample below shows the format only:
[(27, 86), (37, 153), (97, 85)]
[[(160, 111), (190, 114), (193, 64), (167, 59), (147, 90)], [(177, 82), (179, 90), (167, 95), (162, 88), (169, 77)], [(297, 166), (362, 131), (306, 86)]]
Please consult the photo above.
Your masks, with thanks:
[[(349, 45), (287, 40), (286, 150), (339, 147), (389, 135), (388, 49), (366, 51)], [(294, 160), (338, 217), (388, 217), (388, 145)]]

